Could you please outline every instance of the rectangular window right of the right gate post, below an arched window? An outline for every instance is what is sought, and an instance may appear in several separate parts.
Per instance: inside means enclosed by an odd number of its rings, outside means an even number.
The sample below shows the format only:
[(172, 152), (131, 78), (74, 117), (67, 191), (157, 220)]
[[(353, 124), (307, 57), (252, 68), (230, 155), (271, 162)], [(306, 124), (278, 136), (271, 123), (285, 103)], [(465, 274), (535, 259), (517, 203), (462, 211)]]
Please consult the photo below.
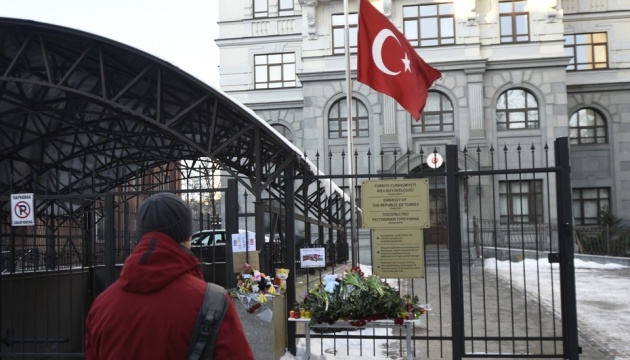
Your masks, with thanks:
[(602, 210), (610, 208), (610, 189), (573, 189), (573, 219), (575, 225), (600, 223)]

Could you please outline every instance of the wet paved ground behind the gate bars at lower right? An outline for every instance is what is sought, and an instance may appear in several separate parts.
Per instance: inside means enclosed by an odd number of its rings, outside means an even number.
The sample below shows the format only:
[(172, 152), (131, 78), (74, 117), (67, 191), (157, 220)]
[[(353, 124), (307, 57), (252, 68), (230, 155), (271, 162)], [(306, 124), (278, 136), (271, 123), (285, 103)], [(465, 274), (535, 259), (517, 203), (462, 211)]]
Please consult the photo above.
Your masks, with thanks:
[[(518, 265), (520, 266), (520, 265)], [(536, 272), (525, 269), (522, 274), (518, 271), (505, 271), (491, 267), (485, 271), (481, 264), (464, 268), (464, 331), (467, 338), (478, 340), (466, 341), (466, 353), (474, 354), (478, 359), (483, 354), (502, 354), (504, 359), (510, 359), (511, 354), (523, 354), (541, 357), (557, 354), (562, 358), (562, 341), (560, 338), (562, 323), (560, 318), (559, 279), (557, 271), (539, 269)], [(524, 275), (523, 275), (524, 274)], [(627, 309), (625, 301), (612, 304), (606, 301), (606, 293), (615, 293), (618, 289), (592, 289), (593, 286), (611, 286), (602, 280), (604, 277), (616, 278), (630, 285), (630, 270), (580, 270), (576, 269), (576, 287), (578, 300), (579, 345), (582, 348), (580, 359), (586, 360), (618, 360), (630, 359), (627, 351), (619, 349), (619, 339), (614, 332), (625, 337), (630, 329), (602, 328), (603, 319), (610, 317), (611, 310)], [(317, 277), (314, 277), (317, 279)], [(313, 280), (311, 277), (310, 280)], [(533, 285), (532, 285), (533, 283)], [(588, 285), (587, 285), (588, 284)], [(432, 305), (431, 311), (424, 317), (421, 325), (415, 330), (416, 336), (423, 338), (414, 341), (416, 359), (450, 359), (452, 346), (449, 338), (452, 336), (451, 321), (451, 284), (448, 267), (427, 268), (424, 279), (415, 279), (413, 288), (410, 281), (395, 282), (392, 285), (401, 289), (401, 293), (414, 293)], [(590, 296), (601, 298), (593, 301), (584, 298), (583, 291)], [(599, 293), (599, 295), (597, 295)], [(609, 297), (608, 297), (609, 298)], [(625, 298), (627, 299), (627, 297)], [(627, 311), (620, 312), (619, 317), (630, 318)], [(555, 315), (554, 315), (555, 314)], [(607, 315), (607, 316), (606, 316)], [(597, 316), (599, 321), (593, 321)], [(614, 316), (614, 315), (613, 315)], [(610, 319), (609, 319), (610, 321)], [(627, 324), (628, 321), (619, 321)], [(630, 326), (630, 325), (628, 325)], [(610, 330), (613, 333), (606, 333)], [(499, 337), (509, 337), (510, 340), (498, 341)], [(528, 339), (528, 340), (527, 340)], [(318, 340), (317, 340), (318, 341)], [(338, 342), (336, 346), (339, 346)], [(388, 348), (398, 348), (397, 341), (389, 341)], [(403, 346), (404, 347), (404, 346)], [(346, 350), (340, 349), (340, 353)], [(353, 358), (352, 354), (348, 354)], [(356, 357), (365, 359), (370, 354)], [(406, 359), (391, 353), (374, 354), (374, 358)], [(496, 359), (496, 357), (494, 358)]]

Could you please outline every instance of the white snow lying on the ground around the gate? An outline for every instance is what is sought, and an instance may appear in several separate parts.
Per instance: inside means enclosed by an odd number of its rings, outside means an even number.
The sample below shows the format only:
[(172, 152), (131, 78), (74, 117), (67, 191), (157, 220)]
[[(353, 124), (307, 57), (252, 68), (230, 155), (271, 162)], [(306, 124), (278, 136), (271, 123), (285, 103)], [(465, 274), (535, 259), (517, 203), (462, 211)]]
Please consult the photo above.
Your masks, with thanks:
[[(499, 276), (509, 278), (515, 286), (527, 286), (529, 291), (540, 291), (543, 305), (551, 303), (551, 297), (560, 299), (559, 287), (549, 286), (551, 281), (558, 282), (558, 264), (549, 264), (547, 261), (536, 261), (526, 259), (523, 262), (497, 261), (496, 259), (485, 259), (486, 271), (498, 271)], [(598, 264), (591, 261), (576, 259), (575, 284), (577, 312), (580, 335), (585, 336), (589, 341), (597, 343), (598, 347), (606, 349), (613, 354), (615, 360), (630, 359), (630, 268), (623, 265), (608, 263)], [(361, 266), (366, 274), (371, 274), (371, 267)], [(510, 271), (511, 268), (511, 271)], [(541, 276), (533, 276), (539, 271)], [(545, 276), (548, 274), (549, 276)], [(553, 280), (552, 280), (553, 279)], [(540, 286), (538, 286), (540, 282)], [(554, 288), (555, 294), (545, 289)], [(546, 291), (546, 292), (545, 292)], [(537, 293), (535, 294), (537, 296)], [(557, 311), (560, 311), (557, 308)], [(372, 330), (369, 330), (372, 331)], [(376, 334), (383, 334), (383, 329), (375, 329)], [(385, 356), (373, 357), (366, 355), (350, 355), (343, 353), (358, 353), (360, 350), (364, 354), (373, 354), (371, 346), (381, 346), (363, 343), (363, 349), (359, 344), (343, 343), (333, 344), (329, 339), (313, 339), (311, 341), (311, 360), (381, 360), (388, 359)], [(338, 341), (339, 342), (339, 341)], [(321, 349), (324, 355), (320, 355)], [(332, 349), (336, 346), (340, 352), (335, 355)], [(301, 359), (305, 352), (304, 339), (300, 339), (297, 344), (297, 357), (287, 352), (280, 360)], [(587, 359), (589, 360), (589, 359)], [(593, 359), (596, 360), (596, 359)]]

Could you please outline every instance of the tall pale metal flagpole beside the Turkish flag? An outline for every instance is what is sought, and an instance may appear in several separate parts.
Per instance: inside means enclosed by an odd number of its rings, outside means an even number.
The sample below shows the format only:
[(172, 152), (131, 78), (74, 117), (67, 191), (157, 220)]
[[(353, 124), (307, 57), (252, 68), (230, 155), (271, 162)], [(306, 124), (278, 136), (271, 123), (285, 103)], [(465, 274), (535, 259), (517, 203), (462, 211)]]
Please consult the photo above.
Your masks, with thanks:
[(359, 240), (355, 224), (355, 199), (354, 199), (354, 130), (352, 128), (352, 79), (350, 78), (350, 26), (348, 24), (348, 0), (343, 0), (343, 13), (345, 17), (345, 43), (346, 55), (346, 105), (348, 108), (348, 174), (350, 174), (350, 244), (352, 245), (352, 266), (357, 266), (359, 258)]

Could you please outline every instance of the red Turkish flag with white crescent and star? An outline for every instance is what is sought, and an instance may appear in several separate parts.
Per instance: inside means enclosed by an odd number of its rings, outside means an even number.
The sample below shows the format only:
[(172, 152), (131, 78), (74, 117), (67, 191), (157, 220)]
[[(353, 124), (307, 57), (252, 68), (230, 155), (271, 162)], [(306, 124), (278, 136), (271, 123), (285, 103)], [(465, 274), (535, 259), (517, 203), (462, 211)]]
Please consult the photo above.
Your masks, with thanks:
[(393, 97), (419, 120), (428, 89), (442, 74), (368, 0), (359, 7), (358, 38), (357, 80)]

